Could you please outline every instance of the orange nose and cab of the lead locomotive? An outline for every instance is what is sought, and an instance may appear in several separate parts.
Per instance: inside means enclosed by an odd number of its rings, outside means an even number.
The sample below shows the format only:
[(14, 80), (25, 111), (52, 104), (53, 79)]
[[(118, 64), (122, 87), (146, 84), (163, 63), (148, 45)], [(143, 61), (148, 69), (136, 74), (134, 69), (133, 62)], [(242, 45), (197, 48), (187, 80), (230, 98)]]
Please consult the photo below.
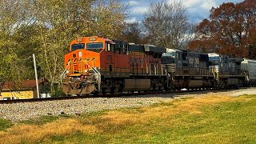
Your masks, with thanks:
[(113, 50), (114, 42), (107, 38), (83, 37), (70, 42), (62, 73), (66, 94), (92, 94), (101, 84), (101, 53)]

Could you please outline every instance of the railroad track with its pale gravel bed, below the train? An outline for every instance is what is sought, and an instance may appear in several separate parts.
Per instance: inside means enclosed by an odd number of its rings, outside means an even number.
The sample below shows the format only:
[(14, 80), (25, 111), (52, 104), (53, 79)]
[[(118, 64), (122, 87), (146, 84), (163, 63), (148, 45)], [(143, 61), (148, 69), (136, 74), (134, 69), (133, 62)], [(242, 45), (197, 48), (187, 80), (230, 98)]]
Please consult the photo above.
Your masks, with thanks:
[[(164, 91), (162, 93), (135, 93), (119, 95), (100, 95), (82, 97), (40, 98), (27, 100), (5, 101), (0, 104), (0, 118), (11, 122), (20, 122), (39, 118), (42, 115), (60, 114), (78, 116), (101, 110), (113, 110), (126, 107), (148, 106), (158, 102), (170, 102), (174, 98), (203, 95), (230, 95), (244, 90), (183, 90)], [(254, 89), (255, 91), (255, 89)], [(103, 98), (104, 97), (104, 98)]]

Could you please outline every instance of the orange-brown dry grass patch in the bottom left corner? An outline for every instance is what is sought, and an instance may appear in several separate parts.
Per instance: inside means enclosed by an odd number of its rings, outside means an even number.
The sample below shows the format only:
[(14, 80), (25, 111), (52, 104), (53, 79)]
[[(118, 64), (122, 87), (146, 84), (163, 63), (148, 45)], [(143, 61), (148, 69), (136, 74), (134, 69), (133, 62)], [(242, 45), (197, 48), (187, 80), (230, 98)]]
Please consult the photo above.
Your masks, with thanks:
[(97, 132), (95, 126), (82, 125), (77, 119), (61, 119), (55, 122), (46, 123), (42, 126), (18, 125), (6, 132), (0, 133), (0, 142), (22, 143), (42, 142), (55, 135), (68, 135), (81, 131), (83, 134), (94, 134)]

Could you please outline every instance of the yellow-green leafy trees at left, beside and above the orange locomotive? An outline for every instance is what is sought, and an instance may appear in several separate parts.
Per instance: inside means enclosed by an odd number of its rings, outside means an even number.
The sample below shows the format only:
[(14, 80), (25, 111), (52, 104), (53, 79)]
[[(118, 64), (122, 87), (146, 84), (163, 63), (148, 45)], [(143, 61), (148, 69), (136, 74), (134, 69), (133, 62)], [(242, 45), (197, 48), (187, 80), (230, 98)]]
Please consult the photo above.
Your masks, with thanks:
[(1, 0), (0, 82), (47, 78), (59, 82), (63, 58), (74, 38), (100, 35), (119, 38), (126, 6), (118, 0)]

